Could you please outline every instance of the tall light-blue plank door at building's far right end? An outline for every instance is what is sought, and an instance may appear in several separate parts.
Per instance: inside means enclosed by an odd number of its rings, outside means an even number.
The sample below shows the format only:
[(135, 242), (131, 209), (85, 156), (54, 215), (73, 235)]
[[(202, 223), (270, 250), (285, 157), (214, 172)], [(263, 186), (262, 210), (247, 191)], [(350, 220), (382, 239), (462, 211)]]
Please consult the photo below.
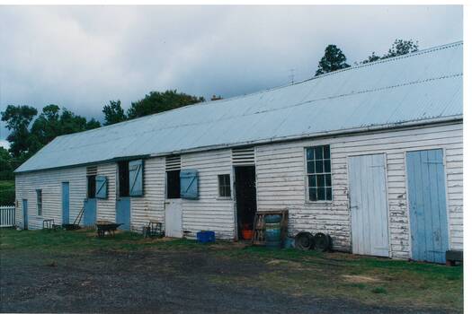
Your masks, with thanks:
[(449, 248), (442, 150), (406, 153), (412, 258), (446, 262)]

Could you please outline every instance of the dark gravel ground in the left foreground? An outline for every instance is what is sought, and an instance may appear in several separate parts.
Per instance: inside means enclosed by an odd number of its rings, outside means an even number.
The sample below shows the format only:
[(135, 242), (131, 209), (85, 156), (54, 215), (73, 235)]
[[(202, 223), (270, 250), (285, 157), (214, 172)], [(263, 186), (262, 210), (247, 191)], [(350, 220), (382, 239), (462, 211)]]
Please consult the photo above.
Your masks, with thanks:
[[(236, 280), (263, 275), (264, 263), (205, 252), (98, 250), (54, 257), (14, 252), (2, 256), (0, 266), (2, 312), (426, 312), (251, 289)], [(227, 281), (211, 280), (215, 276)]]

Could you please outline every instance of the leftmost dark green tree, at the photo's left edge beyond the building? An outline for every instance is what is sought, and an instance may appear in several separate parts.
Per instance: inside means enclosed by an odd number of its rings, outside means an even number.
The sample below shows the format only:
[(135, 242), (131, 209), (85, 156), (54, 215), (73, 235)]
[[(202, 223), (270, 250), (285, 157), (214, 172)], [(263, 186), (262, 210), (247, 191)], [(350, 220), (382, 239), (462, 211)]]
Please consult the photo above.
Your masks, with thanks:
[(20, 157), (22, 153), (29, 153), (31, 120), (38, 114), (38, 110), (30, 106), (8, 105), (2, 112), (2, 121), (11, 132), (6, 137), (10, 142), (10, 153), (13, 157)]

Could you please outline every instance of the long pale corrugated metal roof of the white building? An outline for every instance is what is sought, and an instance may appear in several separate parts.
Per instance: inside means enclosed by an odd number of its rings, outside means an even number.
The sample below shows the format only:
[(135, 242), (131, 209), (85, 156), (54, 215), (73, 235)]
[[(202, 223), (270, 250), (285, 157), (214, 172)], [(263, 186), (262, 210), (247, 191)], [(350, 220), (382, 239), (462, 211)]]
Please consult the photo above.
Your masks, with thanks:
[(462, 117), (462, 42), (58, 136), (16, 171)]

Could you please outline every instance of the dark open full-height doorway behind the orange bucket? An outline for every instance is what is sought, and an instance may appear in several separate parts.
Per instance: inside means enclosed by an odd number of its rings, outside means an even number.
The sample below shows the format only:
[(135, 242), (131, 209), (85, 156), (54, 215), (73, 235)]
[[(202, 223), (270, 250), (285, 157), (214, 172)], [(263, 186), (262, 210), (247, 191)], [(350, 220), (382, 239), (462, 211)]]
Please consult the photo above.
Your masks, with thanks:
[(253, 230), (256, 211), (255, 167), (235, 167), (237, 236), (242, 239), (243, 229)]

